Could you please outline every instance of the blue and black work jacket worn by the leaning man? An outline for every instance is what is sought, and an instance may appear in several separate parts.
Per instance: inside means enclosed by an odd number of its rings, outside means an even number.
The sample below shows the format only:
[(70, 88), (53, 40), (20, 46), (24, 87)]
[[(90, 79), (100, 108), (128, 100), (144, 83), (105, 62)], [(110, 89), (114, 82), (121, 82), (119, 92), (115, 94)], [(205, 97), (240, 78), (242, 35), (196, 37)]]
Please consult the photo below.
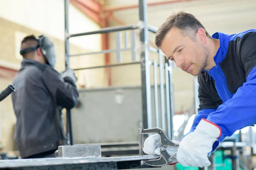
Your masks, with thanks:
[(256, 30), (212, 37), (220, 42), (216, 65), (198, 75), (200, 105), (189, 133), (201, 119), (218, 125), (222, 133), (213, 152), (225, 137), (256, 123)]

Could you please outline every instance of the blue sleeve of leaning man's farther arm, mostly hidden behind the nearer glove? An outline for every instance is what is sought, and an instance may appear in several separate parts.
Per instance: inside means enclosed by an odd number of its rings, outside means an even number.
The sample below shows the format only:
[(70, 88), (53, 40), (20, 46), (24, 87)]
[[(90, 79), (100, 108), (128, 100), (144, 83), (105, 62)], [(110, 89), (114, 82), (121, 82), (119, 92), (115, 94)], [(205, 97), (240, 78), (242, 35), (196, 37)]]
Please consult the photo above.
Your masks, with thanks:
[[(198, 114), (195, 116), (195, 119), (193, 121), (192, 127), (189, 130), (189, 133), (191, 133), (195, 130), (195, 127), (198, 125), (198, 123), (201, 121), (201, 119), (207, 119), (208, 115), (214, 111), (216, 111), (216, 109), (204, 109), (204, 110), (199, 111)], [(187, 134), (189, 134), (189, 133), (187, 133)], [(185, 136), (183, 136), (178, 141), (181, 141)], [(217, 149), (218, 145), (219, 145), (219, 142), (215, 141), (214, 144), (212, 145), (212, 151), (210, 153), (208, 153), (208, 156)]]

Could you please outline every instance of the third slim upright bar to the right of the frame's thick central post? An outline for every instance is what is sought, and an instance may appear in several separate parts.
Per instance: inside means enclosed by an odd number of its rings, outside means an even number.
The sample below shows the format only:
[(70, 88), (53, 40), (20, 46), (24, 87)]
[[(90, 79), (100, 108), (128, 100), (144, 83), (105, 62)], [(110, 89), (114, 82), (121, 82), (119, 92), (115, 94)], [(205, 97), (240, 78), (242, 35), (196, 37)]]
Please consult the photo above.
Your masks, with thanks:
[(168, 63), (165, 63), (165, 80), (166, 80), (166, 113), (167, 113), (167, 135), (171, 138), (171, 113), (170, 113), (170, 91), (169, 91), (169, 71)]

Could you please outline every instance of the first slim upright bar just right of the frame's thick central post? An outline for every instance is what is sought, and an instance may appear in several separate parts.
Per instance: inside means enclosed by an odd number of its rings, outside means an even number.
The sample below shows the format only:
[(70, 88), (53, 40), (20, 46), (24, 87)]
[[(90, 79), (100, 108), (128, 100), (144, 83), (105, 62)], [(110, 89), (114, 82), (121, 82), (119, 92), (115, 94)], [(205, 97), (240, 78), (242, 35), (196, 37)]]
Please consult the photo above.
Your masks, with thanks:
[(158, 65), (157, 65), (157, 59), (154, 59), (154, 102), (155, 102), (155, 117), (156, 117), (156, 127), (159, 127), (157, 66), (158, 66)]

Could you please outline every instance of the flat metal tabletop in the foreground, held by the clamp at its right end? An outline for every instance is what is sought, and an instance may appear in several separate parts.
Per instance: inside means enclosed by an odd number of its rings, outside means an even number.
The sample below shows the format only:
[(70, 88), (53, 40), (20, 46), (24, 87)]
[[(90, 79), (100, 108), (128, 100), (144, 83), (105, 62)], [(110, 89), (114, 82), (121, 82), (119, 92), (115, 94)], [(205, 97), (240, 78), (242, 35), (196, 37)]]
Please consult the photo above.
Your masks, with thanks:
[(120, 156), (105, 158), (45, 158), (0, 160), (0, 169), (9, 170), (117, 170), (148, 168), (140, 161), (157, 159), (159, 156)]

